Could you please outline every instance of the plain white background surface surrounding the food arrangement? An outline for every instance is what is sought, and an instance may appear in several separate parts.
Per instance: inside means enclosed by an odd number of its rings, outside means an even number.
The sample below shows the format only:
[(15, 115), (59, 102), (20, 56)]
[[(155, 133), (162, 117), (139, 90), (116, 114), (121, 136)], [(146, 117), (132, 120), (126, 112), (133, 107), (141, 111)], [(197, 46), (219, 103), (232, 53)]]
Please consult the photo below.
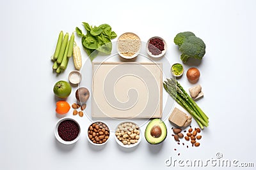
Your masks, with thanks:
[[(223, 0), (1, 1), (0, 169), (171, 169), (173, 165), (164, 164), (170, 157), (206, 161), (216, 159), (218, 152), (223, 159), (256, 166), (255, 6), (255, 1)], [(149, 145), (143, 138), (138, 147), (124, 150), (111, 136), (106, 146), (94, 147), (85, 135), (87, 117), (76, 117), (83, 133), (76, 145), (56, 141), (54, 125), (59, 118), (52, 87), (67, 80), (74, 66), (70, 62), (65, 73), (56, 76), (50, 57), (59, 32), (71, 34), (76, 26), (82, 27), (81, 22), (107, 23), (116, 34), (134, 32), (142, 41), (161, 36), (168, 43), (166, 57), (171, 63), (180, 62), (173, 43), (177, 33), (192, 31), (204, 40), (204, 59), (190, 63), (201, 71), (198, 83), (205, 96), (198, 104), (210, 120), (200, 147), (177, 145), (168, 120), (168, 136), (161, 145)], [(87, 55), (76, 40), (85, 62)], [(186, 76), (180, 82), (191, 87)]]

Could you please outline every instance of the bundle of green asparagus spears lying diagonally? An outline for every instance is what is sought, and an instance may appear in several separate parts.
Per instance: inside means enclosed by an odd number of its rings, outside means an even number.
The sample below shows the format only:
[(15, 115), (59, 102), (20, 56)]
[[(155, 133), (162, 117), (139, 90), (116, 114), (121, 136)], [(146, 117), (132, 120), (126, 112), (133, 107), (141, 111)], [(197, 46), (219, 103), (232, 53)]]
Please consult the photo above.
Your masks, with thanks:
[(167, 81), (164, 81), (163, 86), (166, 92), (168, 92), (180, 106), (195, 118), (201, 129), (204, 129), (204, 126), (208, 126), (209, 118), (205, 115), (204, 111), (198, 107), (195, 101), (193, 101), (177, 80), (167, 78)]

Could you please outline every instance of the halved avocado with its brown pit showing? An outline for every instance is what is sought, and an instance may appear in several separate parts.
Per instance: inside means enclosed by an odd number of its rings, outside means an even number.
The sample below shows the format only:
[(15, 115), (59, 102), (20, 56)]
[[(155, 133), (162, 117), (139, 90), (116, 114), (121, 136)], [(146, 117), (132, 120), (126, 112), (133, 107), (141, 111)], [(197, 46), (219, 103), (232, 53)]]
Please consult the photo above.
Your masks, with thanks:
[(164, 122), (155, 118), (151, 120), (145, 130), (145, 138), (148, 143), (156, 145), (164, 141), (167, 136), (167, 129)]

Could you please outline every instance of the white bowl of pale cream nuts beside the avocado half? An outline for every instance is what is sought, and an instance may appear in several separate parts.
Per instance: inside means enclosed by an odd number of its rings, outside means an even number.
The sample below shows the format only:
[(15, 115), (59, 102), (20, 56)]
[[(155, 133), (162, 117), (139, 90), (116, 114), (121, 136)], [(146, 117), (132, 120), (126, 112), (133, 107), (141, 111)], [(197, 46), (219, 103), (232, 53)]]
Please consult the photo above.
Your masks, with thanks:
[(141, 141), (140, 127), (132, 121), (124, 121), (117, 125), (115, 140), (124, 148), (132, 148)]

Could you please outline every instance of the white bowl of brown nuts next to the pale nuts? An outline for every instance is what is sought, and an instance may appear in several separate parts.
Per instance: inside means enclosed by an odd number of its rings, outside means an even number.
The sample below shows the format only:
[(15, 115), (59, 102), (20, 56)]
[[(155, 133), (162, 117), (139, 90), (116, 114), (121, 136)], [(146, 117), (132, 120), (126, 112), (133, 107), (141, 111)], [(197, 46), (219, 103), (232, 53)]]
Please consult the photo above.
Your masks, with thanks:
[(92, 145), (105, 145), (109, 139), (109, 127), (106, 123), (97, 121), (88, 127), (87, 139)]

